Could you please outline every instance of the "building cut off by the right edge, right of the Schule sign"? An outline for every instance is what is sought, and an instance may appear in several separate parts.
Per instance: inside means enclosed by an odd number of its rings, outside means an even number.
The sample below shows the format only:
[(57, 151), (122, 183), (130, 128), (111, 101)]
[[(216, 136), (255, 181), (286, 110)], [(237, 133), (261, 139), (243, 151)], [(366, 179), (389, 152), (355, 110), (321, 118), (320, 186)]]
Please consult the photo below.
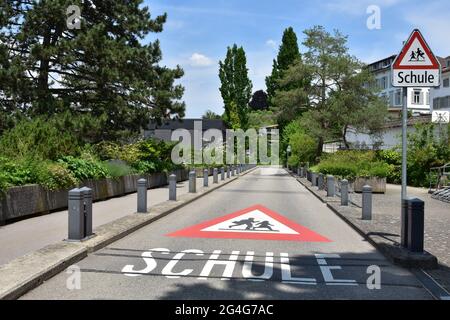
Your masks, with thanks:
[(430, 90), (431, 110), (450, 111), (450, 56), (438, 60), (442, 67), (441, 85)]

